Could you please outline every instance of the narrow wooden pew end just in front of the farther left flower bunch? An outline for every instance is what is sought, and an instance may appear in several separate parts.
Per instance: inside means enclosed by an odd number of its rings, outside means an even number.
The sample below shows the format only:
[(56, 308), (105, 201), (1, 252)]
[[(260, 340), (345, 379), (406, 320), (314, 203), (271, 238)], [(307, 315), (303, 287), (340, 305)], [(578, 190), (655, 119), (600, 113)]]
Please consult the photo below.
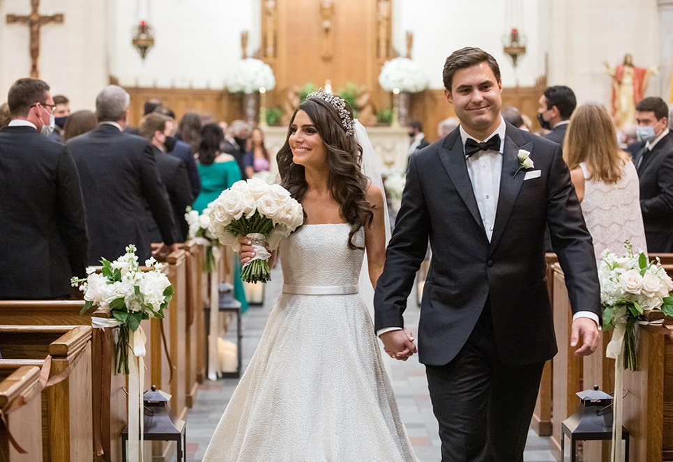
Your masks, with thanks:
[[(206, 325), (204, 322), (204, 300), (202, 278), (205, 252), (204, 248), (193, 242), (186, 242), (182, 249), (186, 256), (186, 405), (191, 408), (199, 383), (206, 375)], [(200, 378), (200, 382), (199, 382)]]

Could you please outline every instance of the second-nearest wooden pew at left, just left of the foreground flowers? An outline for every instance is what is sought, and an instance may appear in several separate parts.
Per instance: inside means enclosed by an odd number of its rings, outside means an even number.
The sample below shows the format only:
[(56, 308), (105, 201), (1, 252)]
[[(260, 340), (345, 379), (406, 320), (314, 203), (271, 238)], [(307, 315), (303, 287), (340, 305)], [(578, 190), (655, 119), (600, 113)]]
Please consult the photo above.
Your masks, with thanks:
[(49, 374), (42, 412), (45, 461), (91, 459), (91, 327), (0, 326), (0, 353), (0, 369), (36, 366)]

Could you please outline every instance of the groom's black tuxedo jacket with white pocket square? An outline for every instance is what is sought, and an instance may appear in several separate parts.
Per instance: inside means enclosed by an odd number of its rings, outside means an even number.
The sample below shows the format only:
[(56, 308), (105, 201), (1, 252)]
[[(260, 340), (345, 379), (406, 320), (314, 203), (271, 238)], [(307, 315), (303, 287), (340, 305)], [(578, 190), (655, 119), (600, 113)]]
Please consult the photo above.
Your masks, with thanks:
[[(530, 152), (524, 179), (519, 149)], [(531, 175), (532, 176), (532, 175)], [(418, 354), (444, 365), (458, 354), (490, 302), (494, 342), (506, 364), (530, 364), (557, 352), (545, 278), (545, 224), (566, 274), (573, 311), (600, 318), (600, 288), (587, 231), (561, 147), (507, 123), (499, 201), (488, 241), (465, 162), (460, 131), (416, 151), (375, 295), (376, 329), (402, 327), (402, 313), (432, 247)]]

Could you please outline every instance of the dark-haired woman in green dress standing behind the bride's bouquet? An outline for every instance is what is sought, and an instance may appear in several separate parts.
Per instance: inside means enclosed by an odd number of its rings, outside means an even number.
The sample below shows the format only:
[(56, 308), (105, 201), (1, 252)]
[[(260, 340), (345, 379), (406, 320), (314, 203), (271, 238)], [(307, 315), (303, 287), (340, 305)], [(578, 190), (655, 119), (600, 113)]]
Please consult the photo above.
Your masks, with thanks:
[[(194, 201), (194, 210), (202, 213), (209, 203), (220, 193), (241, 179), (241, 169), (234, 156), (220, 153), (220, 144), (224, 133), (216, 123), (206, 123), (201, 131), (201, 143), (197, 154), (197, 169), (201, 177), (201, 192)], [(234, 298), (241, 302), (241, 312), (248, 309), (245, 300), (243, 281), (241, 281), (241, 263), (234, 258)]]

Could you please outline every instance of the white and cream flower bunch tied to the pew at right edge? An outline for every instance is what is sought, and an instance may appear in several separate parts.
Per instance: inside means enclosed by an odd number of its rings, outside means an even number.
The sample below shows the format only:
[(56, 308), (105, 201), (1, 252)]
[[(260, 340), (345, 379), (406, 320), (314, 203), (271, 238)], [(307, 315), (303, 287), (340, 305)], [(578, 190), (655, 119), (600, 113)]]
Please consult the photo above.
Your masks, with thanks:
[[(659, 259), (648, 261), (644, 252), (635, 255), (628, 240), (626, 255), (618, 257), (609, 249), (603, 251), (598, 266), (600, 302), (603, 305), (603, 330), (614, 329), (608, 355), (624, 353), (624, 369), (637, 370), (634, 327), (644, 323), (646, 309), (660, 309), (673, 316), (673, 281)], [(620, 338), (621, 337), (621, 338)], [(623, 339), (623, 350), (621, 340)], [(613, 343), (614, 342), (614, 343)]]

